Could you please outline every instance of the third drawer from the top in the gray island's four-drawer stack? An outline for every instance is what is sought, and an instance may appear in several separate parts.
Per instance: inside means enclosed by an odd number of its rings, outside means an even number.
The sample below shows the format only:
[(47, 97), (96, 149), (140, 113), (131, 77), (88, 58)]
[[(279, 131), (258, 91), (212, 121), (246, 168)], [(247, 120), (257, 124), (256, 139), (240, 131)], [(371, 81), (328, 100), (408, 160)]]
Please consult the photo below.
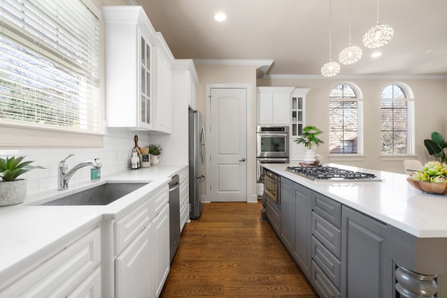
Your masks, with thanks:
[(337, 289), (339, 289), (342, 262), (335, 258), (335, 255), (332, 255), (315, 237), (312, 237), (312, 259)]

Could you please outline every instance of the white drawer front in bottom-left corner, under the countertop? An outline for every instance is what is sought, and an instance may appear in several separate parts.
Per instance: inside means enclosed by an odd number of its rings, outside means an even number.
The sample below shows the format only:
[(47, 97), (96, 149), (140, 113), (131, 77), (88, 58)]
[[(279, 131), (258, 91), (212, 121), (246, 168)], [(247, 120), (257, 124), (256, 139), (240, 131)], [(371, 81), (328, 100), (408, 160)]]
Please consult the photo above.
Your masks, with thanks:
[(101, 281), (95, 279), (101, 261), (100, 230), (95, 227), (76, 238), (11, 276), (11, 282), (0, 289), (0, 297), (66, 297), (85, 288), (84, 281), (89, 278), (95, 280), (94, 292), (101, 290)]

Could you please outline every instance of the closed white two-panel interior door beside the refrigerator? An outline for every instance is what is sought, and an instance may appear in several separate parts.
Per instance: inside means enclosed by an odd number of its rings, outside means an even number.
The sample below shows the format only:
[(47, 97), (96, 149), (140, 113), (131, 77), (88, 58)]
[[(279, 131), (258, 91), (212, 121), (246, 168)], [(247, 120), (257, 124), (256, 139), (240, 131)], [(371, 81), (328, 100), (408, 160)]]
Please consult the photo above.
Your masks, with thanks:
[(211, 202), (247, 201), (247, 89), (210, 89)]

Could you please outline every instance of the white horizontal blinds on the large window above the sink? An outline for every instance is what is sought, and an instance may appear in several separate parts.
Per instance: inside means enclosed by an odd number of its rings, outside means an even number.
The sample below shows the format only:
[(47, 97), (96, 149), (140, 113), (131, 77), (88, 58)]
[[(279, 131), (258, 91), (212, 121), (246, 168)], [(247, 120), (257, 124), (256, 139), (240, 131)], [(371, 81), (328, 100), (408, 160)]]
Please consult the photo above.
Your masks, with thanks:
[(80, 0), (3, 0), (0, 123), (101, 132), (99, 22)]

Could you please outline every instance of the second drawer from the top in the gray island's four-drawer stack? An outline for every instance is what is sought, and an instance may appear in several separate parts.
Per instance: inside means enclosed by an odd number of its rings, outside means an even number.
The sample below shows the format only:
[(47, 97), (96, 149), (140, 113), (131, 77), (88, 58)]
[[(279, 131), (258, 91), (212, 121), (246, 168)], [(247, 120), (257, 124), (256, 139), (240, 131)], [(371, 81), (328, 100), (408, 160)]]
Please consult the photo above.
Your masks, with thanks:
[(323, 217), (312, 212), (312, 234), (318, 241), (340, 259), (342, 232)]

